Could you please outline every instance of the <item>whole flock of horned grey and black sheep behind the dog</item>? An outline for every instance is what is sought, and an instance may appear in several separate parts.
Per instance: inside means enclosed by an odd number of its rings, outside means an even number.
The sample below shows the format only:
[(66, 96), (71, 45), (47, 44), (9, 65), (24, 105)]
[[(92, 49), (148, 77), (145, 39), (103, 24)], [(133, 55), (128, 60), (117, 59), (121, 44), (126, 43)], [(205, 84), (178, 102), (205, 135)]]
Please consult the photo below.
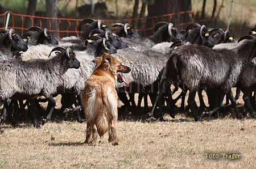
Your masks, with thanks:
[[(118, 79), (118, 97), (123, 108), (133, 112), (141, 107), (144, 98), (147, 120), (151, 120), (157, 107), (160, 120), (164, 120), (163, 102), (167, 103), (170, 116), (175, 117), (175, 102), (181, 97), (180, 109), (191, 109), (195, 121), (199, 121), (202, 116), (219, 110), (223, 113), (225, 95), (238, 119), (246, 117), (247, 111), (251, 117), (256, 117), (255, 98), (251, 99), (256, 83), (254, 29), (235, 42), (229, 31), (198, 23), (179, 31), (173, 23), (159, 22), (147, 37), (139, 36), (127, 23), (116, 23), (112, 27), (117, 27), (116, 31), (110, 31), (99, 19), (84, 19), (79, 25), (79, 31), (84, 28), (80, 37), (60, 39), (55, 39), (47, 28), (31, 27), (22, 36), (12, 28), (1, 29), (0, 106), (3, 105), (3, 110), (0, 123), (8, 117), (12, 125), (18, 125), (13, 113), (24, 113), (27, 106), (34, 126), (39, 128), (41, 122), (36, 113), (43, 116), (42, 124), (51, 120), (57, 95), (61, 95), (60, 112), (64, 112), (66, 118), (76, 113), (77, 121), (84, 122), (82, 90), (94, 70), (94, 58), (104, 52), (131, 67), (129, 74), (123, 74), (129, 87), (122, 83), (124, 79)], [(174, 91), (171, 85), (175, 86)], [(179, 87), (184, 92), (173, 99), (172, 94)], [(231, 92), (233, 87), (237, 87), (236, 98)], [(203, 91), (208, 95), (209, 107), (205, 106)], [(242, 116), (236, 106), (240, 91), (245, 101)], [(134, 102), (135, 93), (139, 93), (138, 103)], [(200, 107), (195, 102), (196, 93)], [(148, 96), (153, 103), (150, 109)], [(44, 109), (39, 103), (46, 101), (47, 115), (43, 115)], [(202, 112), (201, 109), (210, 111)]]

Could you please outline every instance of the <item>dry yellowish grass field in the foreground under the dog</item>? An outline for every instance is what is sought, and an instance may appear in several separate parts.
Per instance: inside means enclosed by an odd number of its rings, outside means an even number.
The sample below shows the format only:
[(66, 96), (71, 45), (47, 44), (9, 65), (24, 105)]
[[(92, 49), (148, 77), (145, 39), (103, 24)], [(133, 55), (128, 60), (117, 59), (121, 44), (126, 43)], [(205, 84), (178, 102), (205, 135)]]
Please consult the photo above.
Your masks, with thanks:
[[(241, 111), (242, 100), (237, 103)], [(108, 134), (99, 139), (97, 146), (86, 145), (86, 122), (80, 124), (54, 116), (40, 129), (30, 122), (19, 122), (18, 128), (6, 122), (0, 125), (0, 168), (256, 166), (256, 121), (250, 117), (240, 121), (230, 113), (195, 122), (187, 113), (177, 113), (175, 119), (166, 115), (166, 122), (146, 122), (145, 118), (143, 112), (119, 113), (118, 146), (108, 143)]]

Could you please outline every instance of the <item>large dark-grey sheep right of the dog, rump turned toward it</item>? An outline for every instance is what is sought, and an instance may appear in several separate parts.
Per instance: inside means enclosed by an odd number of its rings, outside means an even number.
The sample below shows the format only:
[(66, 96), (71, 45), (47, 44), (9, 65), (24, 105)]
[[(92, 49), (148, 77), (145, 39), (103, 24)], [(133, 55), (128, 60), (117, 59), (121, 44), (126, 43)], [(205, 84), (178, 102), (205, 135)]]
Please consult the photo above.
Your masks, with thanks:
[[(218, 106), (210, 112), (203, 114), (211, 115), (222, 107), (225, 94), (229, 98), (233, 98), (231, 88), (238, 82), (240, 75), (246, 69), (248, 60), (245, 50), (250, 50), (251, 45), (242, 43), (233, 49), (211, 49), (196, 44), (181, 45), (177, 47), (171, 54), (162, 77), (162, 89), (170, 87), (170, 83), (181, 81), (189, 89), (188, 104), (193, 113), (195, 121), (201, 120), (195, 108), (195, 94), (198, 88), (203, 87), (214, 89), (220, 88)], [(179, 78), (179, 79), (177, 79)], [(179, 82), (178, 81), (178, 82)], [(148, 113), (150, 120), (154, 111), (156, 102), (163, 94), (162, 89), (158, 92), (158, 96), (154, 101), (151, 111)], [(241, 119), (241, 115), (236, 107), (236, 100), (232, 99), (237, 119)], [(170, 98), (170, 102), (172, 102)]]

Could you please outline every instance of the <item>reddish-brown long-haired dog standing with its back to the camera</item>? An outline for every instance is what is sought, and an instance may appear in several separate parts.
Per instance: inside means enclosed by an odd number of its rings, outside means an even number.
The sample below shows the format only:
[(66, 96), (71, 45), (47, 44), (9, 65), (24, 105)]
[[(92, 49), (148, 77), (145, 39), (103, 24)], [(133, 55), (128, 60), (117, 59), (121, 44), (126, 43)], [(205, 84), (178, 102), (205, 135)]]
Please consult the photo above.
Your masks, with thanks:
[(117, 122), (117, 76), (126, 83), (117, 72), (129, 73), (130, 67), (124, 66), (108, 53), (95, 60), (96, 69), (85, 82), (83, 100), (86, 115), (85, 143), (97, 145), (97, 134), (100, 137), (109, 132), (109, 142), (118, 145), (115, 123)]

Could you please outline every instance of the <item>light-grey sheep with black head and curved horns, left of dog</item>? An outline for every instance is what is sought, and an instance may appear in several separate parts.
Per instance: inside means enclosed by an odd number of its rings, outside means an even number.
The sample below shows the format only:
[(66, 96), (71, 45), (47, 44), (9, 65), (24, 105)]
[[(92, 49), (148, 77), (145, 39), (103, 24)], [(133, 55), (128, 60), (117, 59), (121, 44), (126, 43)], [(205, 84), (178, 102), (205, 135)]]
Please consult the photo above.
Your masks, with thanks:
[[(52, 105), (45, 120), (51, 119), (56, 104), (52, 94), (55, 94), (57, 87), (63, 84), (61, 76), (69, 68), (78, 69), (80, 67), (80, 62), (71, 48), (53, 48), (50, 54), (55, 50), (61, 52), (49, 60), (13, 60), (0, 63), (0, 106), (9, 98), (23, 100), (44, 96)], [(11, 112), (8, 110), (7, 112), (11, 118)], [(34, 126), (40, 127), (35, 119), (35, 111), (33, 115)], [(15, 122), (13, 121), (13, 123)]]

